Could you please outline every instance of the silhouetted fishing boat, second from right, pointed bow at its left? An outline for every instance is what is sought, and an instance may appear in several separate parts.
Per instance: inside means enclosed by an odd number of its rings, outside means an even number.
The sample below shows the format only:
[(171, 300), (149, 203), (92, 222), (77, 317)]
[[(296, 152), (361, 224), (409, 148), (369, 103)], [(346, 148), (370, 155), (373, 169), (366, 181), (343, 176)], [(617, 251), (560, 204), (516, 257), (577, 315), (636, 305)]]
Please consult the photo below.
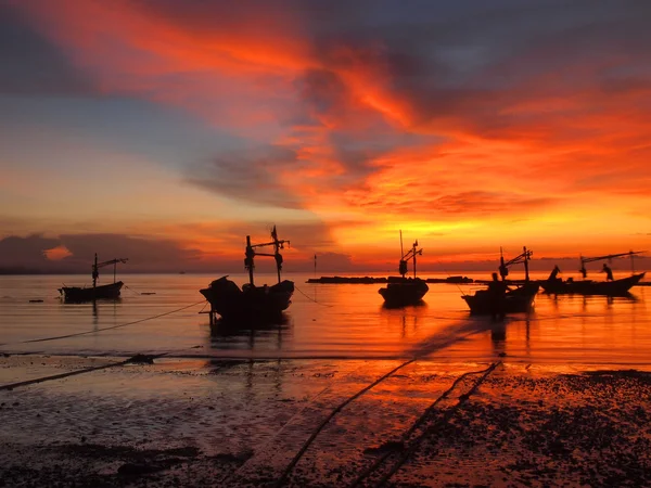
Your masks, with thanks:
[[(463, 295), (461, 298), (465, 300), (472, 314), (492, 314), (505, 316), (507, 313), (519, 313), (528, 311), (533, 304), (539, 285), (529, 281), (528, 261), (532, 257), (532, 252), (523, 247), (523, 253), (513, 259), (506, 261), (500, 248), (500, 265), (499, 273), (501, 282), (497, 280), (497, 273), (494, 274), (494, 282), (488, 285), (487, 290), (480, 290), (474, 295)], [(525, 280), (524, 284), (515, 288), (508, 288), (507, 275), (509, 267), (518, 264), (524, 265)], [(495, 283), (495, 284), (494, 284)]]

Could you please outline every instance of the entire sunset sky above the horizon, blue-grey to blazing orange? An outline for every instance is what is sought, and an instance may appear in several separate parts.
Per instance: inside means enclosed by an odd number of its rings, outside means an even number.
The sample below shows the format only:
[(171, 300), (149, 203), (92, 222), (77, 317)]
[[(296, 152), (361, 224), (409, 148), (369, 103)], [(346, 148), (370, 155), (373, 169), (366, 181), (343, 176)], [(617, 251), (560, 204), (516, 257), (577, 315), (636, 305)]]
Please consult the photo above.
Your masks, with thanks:
[[(651, 247), (647, 0), (0, 0), (0, 268)], [(260, 264), (261, 265), (261, 264)], [(263, 265), (266, 266), (266, 265)]]

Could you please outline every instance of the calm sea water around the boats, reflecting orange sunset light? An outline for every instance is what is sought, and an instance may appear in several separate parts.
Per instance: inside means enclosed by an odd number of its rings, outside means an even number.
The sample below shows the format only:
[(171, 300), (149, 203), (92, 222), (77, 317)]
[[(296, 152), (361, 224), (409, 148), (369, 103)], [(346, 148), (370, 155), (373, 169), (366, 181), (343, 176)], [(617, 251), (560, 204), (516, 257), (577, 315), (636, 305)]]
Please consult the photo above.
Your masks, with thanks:
[[(378, 294), (381, 285), (305, 283), (310, 277), (285, 277), (297, 286), (286, 323), (263, 330), (209, 326), (208, 316), (200, 313), (208, 307), (199, 290), (217, 275), (123, 274), (123, 297), (95, 306), (63, 304), (56, 290), (88, 283), (89, 277), (0, 277), (0, 351), (441, 361), (506, 355), (523, 362), (651, 363), (651, 287), (634, 287), (630, 298), (539, 294), (533, 312), (496, 323), (470, 317), (461, 299), (477, 285), (430, 284), (425, 305), (387, 310)], [(241, 284), (245, 275), (231, 279)], [(256, 280), (275, 282), (272, 275)], [(78, 333), (84, 335), (40, 341)]]

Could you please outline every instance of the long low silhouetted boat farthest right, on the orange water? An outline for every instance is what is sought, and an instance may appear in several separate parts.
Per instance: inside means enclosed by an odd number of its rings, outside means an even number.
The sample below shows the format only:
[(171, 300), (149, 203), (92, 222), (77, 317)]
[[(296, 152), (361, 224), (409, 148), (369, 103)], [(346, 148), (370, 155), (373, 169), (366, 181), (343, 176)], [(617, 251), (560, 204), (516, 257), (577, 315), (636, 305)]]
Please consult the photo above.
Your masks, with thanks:
[[(607, 256), (597, 256), (597, 257), (580, 257), (580, 269), (583, 280), (575, 281), (572, 278), (566, 280), (562, 280), (556, 277), (556, 273), (552, 274), (544, 282), (541, 282), (542, 290), (548, 294), (553, 295), (608, 295), (608, 296), (626, 296), (628, 291), (638, 284), (642, 278), (644, 278), (646, 273), (636, 273), (634, 268), (634, 257), (638, 254), (646, 253), (644, 251), (636, 251), (628, 253), (618, 253), (618, 254), (609, 254)], [(593, 281), (587, 280), (587, 270), (586, 264), (600, 261), (600, 260), (610, 260), (613, 258), (629, 256), (630, 257), (630, 267), (631, 274), (627, 278), (622, 278), (618, 280), (612, 279), (612, 274), (607, 277), (607, 281)], [(604, 267), (604, 270), (608, 269)], [(610, 271), (610, 270), (609, 270)], [(611, 280), (608, 280), (611, 278)]]

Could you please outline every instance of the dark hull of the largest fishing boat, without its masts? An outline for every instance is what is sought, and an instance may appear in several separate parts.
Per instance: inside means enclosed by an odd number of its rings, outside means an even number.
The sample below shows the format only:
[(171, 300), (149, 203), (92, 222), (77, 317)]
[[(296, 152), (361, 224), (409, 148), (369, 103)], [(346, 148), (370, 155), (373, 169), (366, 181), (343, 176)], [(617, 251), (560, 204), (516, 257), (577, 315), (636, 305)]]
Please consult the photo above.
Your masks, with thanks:
[(292, 303), (294, 282), (284, 280), (272, 286), (247, 284), (241, 290), (222, 277), (200, 293), (209, 301), (212, 311), (225, 320), (276, 320)]

